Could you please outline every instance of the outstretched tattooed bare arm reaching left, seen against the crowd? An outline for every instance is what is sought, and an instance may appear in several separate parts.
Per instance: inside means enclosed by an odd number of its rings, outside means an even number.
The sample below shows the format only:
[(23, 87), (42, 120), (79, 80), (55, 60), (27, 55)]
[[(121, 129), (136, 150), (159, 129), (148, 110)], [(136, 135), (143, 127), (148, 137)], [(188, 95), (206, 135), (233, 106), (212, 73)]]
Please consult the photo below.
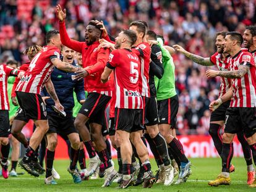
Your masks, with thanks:
[(173, 46), (173, 48), (178, 51), (181, 52), (181, 54), (184, 54), (184, 56), (188, 57), (189, 59), (191, 59), (192, 61), (196, 62), (199, 65), (203, 65), (203, 66), (212, 66), (214, 65), (211, 61), (210, 61), (210, 57), (201, 57), (201, 56), (197, 56), (195, 54), (192, 54), (191, 52), (186, 51), (185, 49), (183, 49), (181, 46), (179, 46), (178, 44), (175, 44)]

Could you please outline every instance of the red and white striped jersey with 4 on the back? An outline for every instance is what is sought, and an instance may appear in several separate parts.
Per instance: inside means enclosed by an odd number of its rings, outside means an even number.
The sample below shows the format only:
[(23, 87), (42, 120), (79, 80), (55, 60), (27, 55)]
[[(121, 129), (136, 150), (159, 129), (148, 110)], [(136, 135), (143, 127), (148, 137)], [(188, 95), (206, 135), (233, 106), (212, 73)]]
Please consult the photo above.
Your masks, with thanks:
[(20, 79), (15, 91), (40, 94), (41, 89), (49, 80), (54, 65), (51, 59), (58, 57), (59, 49), (54, 46), (44, 46), (38, 54), (33, 57), (28, 70)]

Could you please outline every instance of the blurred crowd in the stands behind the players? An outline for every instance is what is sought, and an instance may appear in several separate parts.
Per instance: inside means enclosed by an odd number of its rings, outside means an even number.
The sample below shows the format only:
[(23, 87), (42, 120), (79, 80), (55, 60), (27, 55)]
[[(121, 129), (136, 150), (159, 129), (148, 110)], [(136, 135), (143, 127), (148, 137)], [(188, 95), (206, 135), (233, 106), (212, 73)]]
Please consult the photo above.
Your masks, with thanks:
[[(70, 38), (84, 40), (89, 20), (103, 20), (116, 36), (135, 19), (163, 35), (166, 44), (180, 44), (203, 57), (215, 52), (216, 31), (239, 31), (256, 20), (255, 0), (5, 0), (0, 1), (0, 63), (27, 61), (22, 52), (32, 44), (44, 45), (45, 33), (58, 29), (55, 6), (67, 9)], [(208, 80), (201, 67), (181, 54), (174, 54), (179, 94), (177, 128), (180, 134), (207, 135), (210, 101), (218, 97), (220, 79)]]

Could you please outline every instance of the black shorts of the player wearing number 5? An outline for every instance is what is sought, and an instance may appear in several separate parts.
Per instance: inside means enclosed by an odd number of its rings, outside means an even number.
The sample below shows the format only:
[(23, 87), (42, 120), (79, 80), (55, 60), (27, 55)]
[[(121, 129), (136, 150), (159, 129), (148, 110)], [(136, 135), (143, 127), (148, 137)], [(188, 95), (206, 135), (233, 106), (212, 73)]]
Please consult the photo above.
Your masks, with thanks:
[(120, 109), (115, 112), (115, 129), (126, 131), (128, 133), (140, 130), (142, 122), (142, 109)]

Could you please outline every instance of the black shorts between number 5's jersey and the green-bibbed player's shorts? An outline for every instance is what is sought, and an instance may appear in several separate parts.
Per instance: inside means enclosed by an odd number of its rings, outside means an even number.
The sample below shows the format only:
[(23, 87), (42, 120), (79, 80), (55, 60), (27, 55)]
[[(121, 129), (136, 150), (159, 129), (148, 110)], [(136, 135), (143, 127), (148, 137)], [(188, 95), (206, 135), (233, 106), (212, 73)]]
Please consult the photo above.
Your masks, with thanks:
[(156, 98), (145, 98), (143, 99), (144, 114), (145, 114), (145, 125), (157, 125), (158, 124), (158, 109)]

